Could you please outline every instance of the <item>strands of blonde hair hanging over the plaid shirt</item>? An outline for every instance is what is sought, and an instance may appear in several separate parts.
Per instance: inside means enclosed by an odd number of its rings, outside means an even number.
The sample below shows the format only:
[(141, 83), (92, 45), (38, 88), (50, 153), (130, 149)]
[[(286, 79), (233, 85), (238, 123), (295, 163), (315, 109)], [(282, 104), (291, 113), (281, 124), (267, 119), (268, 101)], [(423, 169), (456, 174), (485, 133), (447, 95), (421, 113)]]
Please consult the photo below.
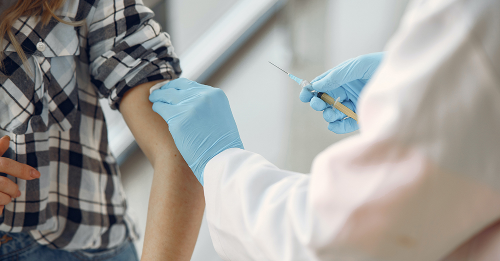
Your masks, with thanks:
[[(7, 35), (10, 43), (13, 45), (22, 62), (26, 62), (26, 54), (22, 50), (21, 45), (15, 38), (15, 35), (11, 29), (14, 22), (21, 16), (39, 16), (39, 19), (42, 22), (43, 26), (47, 25), (52, 17), (57, 21), (65, 24), (73, 26), (82, 25), (83, 21), (68, 22), (62, 20), (54, 14), (54, 11), (59, 9), (65, 1), (66, 0), (17, 0), (14, 5), (8, 7), (3, 11), (3, 13), (1, 13), (2, 18), (0, 20), (0, 46), (2, 46), (4, 40), (3, 37)], [(3, 68), (3, 56), (3, 50), (1, 50), (0, 69)], [(25, 67), (28, 68), (27, 66)]]

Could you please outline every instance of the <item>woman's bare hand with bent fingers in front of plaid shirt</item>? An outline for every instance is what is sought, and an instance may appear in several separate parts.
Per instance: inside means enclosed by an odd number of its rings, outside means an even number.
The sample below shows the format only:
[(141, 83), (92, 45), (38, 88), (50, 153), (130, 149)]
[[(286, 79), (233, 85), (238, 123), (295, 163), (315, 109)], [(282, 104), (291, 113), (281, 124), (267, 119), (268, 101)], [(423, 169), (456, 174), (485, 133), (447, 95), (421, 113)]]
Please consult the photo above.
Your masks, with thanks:
[[(9, 142), (9, 136), (0, 138), (0, 155), (7, 151)], [(40, 177), (40, 173), (33, 167), (4, 157), (0, 157), (0, 172), (23, 180)], [(3, 207), (10, 203), (12, 198), (17, 198), (20, 195), (21, 192), (17, 184), (7, 177), (0, 176), (0, 214), (3, 212)]]

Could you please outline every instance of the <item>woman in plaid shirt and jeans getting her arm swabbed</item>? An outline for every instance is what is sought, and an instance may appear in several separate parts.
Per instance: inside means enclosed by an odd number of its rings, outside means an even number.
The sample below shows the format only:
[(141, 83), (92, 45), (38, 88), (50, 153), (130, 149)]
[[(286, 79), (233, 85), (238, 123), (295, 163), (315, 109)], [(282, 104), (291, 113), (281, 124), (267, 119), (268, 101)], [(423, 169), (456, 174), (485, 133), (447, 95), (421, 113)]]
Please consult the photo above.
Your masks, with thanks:
[(140, 0), (7, 0), (0, 11), (0, 259), (136, 260), (105, 97), (155, 170), (149, 212), (164, 216), (152, 221), (163, 236), (146, 237), (143, 258), (160, 246), (188, 260), (202, 188), (148, 101), (181, 72), (152, 11)]

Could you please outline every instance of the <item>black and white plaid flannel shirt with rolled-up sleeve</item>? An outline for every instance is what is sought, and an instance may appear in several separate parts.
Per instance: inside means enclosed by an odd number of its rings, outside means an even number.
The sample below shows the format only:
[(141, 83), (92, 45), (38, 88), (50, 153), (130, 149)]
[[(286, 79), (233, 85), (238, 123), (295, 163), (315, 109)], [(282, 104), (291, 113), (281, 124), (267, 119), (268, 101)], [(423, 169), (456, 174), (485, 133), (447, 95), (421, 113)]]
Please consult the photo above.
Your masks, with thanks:
[(141, 0), (67, 0), (56, 14), (85, 24), (21, 17), (12, 26), (29, 68), (8, 40), (1, 46), (0, 135), (11, 137), (3, 156), (41, 177), (2, 174), (21, 196), (5, 206), (0, 230), (53, 249), (109, 249), (135, 232), (98, 99), (116, 108), (133, 86), (176, 78), (179, 63)]

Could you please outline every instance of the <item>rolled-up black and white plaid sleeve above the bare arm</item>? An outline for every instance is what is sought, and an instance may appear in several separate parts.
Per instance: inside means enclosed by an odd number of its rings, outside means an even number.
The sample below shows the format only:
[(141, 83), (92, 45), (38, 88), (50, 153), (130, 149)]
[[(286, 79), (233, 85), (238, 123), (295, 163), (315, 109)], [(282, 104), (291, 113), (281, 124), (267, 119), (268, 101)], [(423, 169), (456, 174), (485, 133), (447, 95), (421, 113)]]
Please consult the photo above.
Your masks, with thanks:
[(141, 0), (100, 0), (96, 6), (87, 34), (90, 77), (113, 109), (132, 87), (181, 73), (170, 36), (153, 16)]

